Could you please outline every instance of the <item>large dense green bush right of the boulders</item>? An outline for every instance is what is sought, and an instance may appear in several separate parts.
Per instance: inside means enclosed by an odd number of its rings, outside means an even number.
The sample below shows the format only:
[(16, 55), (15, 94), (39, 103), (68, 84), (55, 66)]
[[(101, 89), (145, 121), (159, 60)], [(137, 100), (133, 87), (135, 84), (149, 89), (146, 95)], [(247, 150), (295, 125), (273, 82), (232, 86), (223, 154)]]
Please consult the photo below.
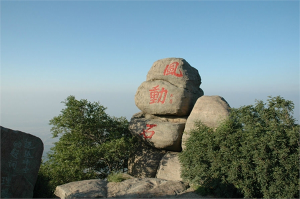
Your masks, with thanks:
[(232, 108), (216, 129), (196, 123), (179, 156), (182, 178), (220, 197), (299, 198), (299, 124), (293, 103)]

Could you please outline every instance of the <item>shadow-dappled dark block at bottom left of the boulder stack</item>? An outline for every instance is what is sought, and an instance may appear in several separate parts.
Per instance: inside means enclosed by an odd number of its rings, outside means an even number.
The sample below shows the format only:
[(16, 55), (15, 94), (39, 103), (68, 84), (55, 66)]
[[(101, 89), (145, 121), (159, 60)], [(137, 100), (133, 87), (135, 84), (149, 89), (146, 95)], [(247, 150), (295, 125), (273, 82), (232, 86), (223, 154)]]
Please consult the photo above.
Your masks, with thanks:
[(157, 167), (165, 152), (165, 150), (140, 143), (128, 158), (128, 174), (134, 177), (155, 177)]

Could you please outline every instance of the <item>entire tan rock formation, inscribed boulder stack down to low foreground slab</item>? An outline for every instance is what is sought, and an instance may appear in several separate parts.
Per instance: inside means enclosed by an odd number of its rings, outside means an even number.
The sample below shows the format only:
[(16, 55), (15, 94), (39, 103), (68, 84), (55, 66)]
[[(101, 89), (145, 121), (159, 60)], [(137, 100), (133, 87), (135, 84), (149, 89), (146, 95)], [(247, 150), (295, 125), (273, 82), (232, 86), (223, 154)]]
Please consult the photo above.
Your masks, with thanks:
[[(198, 70), (182, 58), (153, 63), (146, 81), (135, 94), (141, 112), (129, 122), (140, 145), (128, 159), (122, 182), (100, 179), (71, 182), (56, 187), (60, 198), (199, 198), (182, 182), (178, 154), (196, 120), (216, 127), (228, 116), (229, 104), (220, 96), (205, 96), (199, 88)], [(182, 140), (183, 139), (183, 140)], [(136, 178), (138, 177), (138, 178)], [(188, 188), (192, 189), (192, 188)], [(192, 190), (191, 190), (192, 191)]]

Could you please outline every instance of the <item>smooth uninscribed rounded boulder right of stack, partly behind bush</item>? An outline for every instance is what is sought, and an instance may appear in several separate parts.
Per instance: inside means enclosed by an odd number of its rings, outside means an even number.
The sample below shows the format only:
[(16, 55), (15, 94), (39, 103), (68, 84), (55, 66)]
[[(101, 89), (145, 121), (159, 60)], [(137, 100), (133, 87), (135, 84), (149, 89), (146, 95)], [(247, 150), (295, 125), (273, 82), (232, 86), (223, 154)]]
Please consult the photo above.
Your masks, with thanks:
[(218, 95), (203, 95), (194, 104), (190, 115), (187, 117), (184, 133), (182, 135), (182, 148), (185, 140), (189, 137), (189, 131), (193, 128), (195, 120), (201, 120), (205, 125), (217, 127), (219, 123), (228, 117), (229, 104)]

